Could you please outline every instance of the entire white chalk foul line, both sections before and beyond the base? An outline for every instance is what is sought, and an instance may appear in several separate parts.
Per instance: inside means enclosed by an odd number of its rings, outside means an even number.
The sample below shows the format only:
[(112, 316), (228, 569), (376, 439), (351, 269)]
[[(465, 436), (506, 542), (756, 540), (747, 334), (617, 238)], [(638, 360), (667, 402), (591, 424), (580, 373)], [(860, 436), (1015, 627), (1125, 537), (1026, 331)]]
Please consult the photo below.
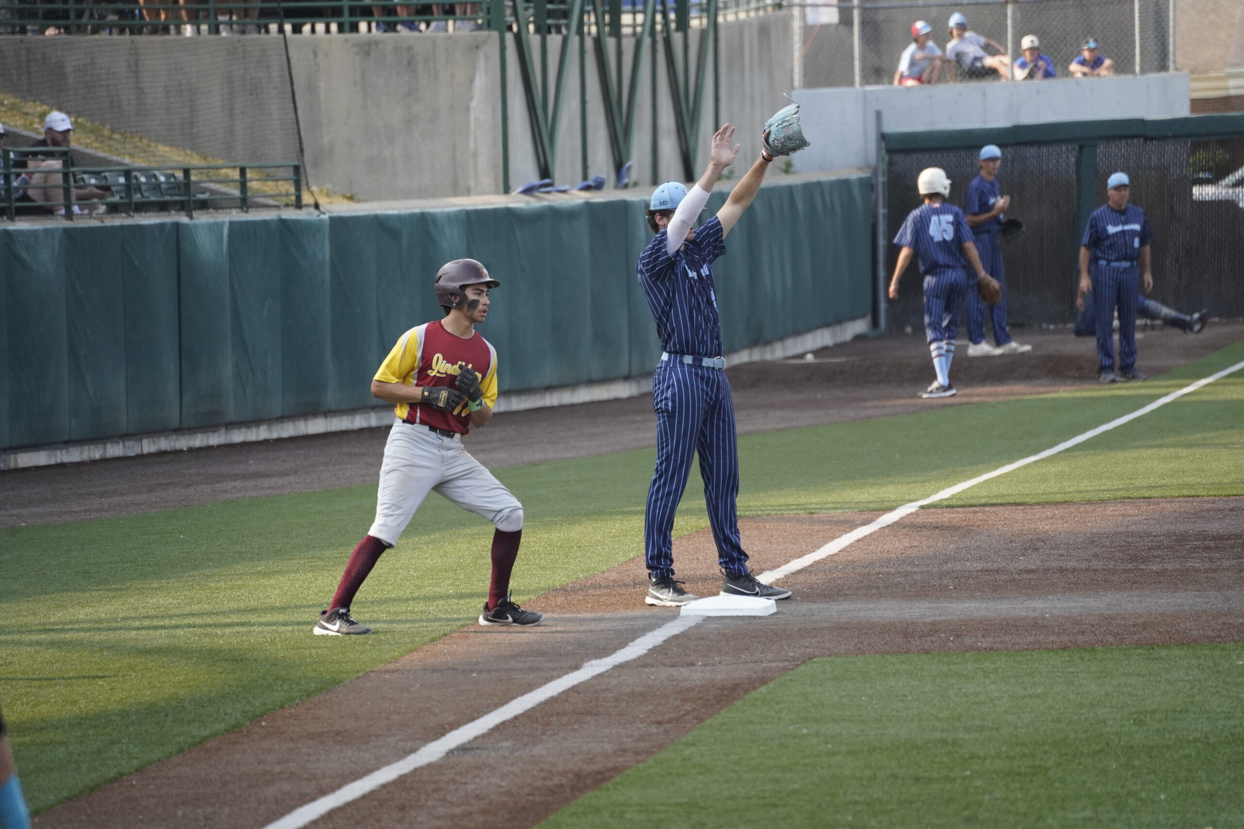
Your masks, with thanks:
[[(1066, 440), (1059, 444), (1057, 446), (1051, 446), (1044, 452), (1037, 452), (1036, 455), (1030, 455), (1029, 457), (1018, 460), (1014, 464), (1000, 466), (994, 471), (979, 475), (972, 479), (970, 481), (955, 483), (954, 486), (942, 490), (935, 495), (931, 495), (927, 498), (922, 498), (919, 501), (912, 501), (911, 503), (904, 503), (897, 510), (893, 510), (881, 516), (871, 524), (867, 524), (865, 527), (858, 527), (857, 529), (852, 529), (847, 534), (841, 536), (840, 538), (835, 538), (833, 541), (825, 544), (825, 547), (821, 547), (816, 552), (796, 558), (795, 561), (784, 564), (782, 567), (779, 567), (776, 569), (766, 570), (765, 573), (761, 573), (756, 578), (764, 582), (765, 584), (773, 584), (774, 582), (785, 575), (790, 575), (791, 573), (804, 569), (809, 564), (819, 562), (827, 556), (832, 556), (833, 553), (845, 549), (850, 544), (860, 541), (866, 536), (871, 536), (882, 527), (888, 527), (899, 518), (909, 516), (911, 513), (916, 512), (923, 506), (927, 506), (935, 501), (943, 501), (945, 498), (949, 498), (952, 495), (963, 492), (969, 487), (973, 487), (990, 479), (995, 479), (999, 475), (1013, 472), (1020, 469), (1021, 466), (1028, 466), (1029, 464), (1039, 461), (1042, 457), (1049, 457), (1050, 455), (1057, 455), (1065, 449), (1070, 449), (1072, 446), (1076, 446), (1077, 444), (1082, 444), (1086, 440), (1096, 437), (1097, 435), (1105, 431), (1110, 431), (1111, 429), (1122, 426), (1125, 423), (1136, 420), (1141, 415), (1146, 415), (1159, 406), (1164, 406), (1172, 400), (1178, 400), (1183, 395), (1195, 392), (1203, 385), (1208, 385), (1209, 383), (1222, 379), (1228, 374), (1232, 374), (1233, 372), (1240, 370), (1242, 368), (1244, 368), (1244, 362), (1237, 363), (1235, 365), (1225, 368), (1215, 374), (1210, 374), (1209, 377), (1204, 377), (1197, 380), (1195, 383), (1186, 385), (1178, 392), (1172, 392), (1171, 394), (1163, 398), (1158, 398), (1153, 403), (1142, 406), (1131, 414), (1123, 415), (1122, 418), (1116, 418), (1115, 420), (1111, 420), (1107, 424), (1102, 424), (1096, 429), (1090, 429), (1082, 435), (1076, 435), (1071, 440)], [(397, 761), (396, 763), (389, 763), (383, 768), (378, 768), (371, 774), (362, 777), (355, 781), (353, 783), (347, 783), (336, 792), (330, 792), (322, 798), (312, 800), (311, 803), (307, 803), (306, 805), (300, 807), (294, 812), (289, 813), (280, 820), (275, 820), (267, 824), (266, 827), (264, 827), (264, 829), (301, 829), (312, 820), (316, 820), (317, 818), (321, 818), (325, 814), (332, 812), (337, 807), (342, 807), (352, 800), (357, 800), (358, 798), (369, 794), (371, 792), (374, 792), (386, 783), (392, 783), (397, 778), (409, 772), (413, 772), (417, 768), (428, 766), (430, 763), (435, 763), (438, 759), (452, 752), (454, 748), (469, 743), (471, 740), (475, 740), (476, 737), (488, 733), (496, 726), (501, 725), (508, 720), (513, 720), (514, 717), (519, 716), (520, 713), (524, 713), (525, 711), (530, 711), (531, 708), (536, 707), (545, 700), (550, 700), (561, 694), (562, 691), (570, 690), (581, 682), (586, 682), (593, 676), (603, 674), (605, 671), (617, 665), (621, 665), (622, 662), (628, 662), (633, 659), (643, 656), (657, 645), (662, 644), (667, 639), (677, 636), (678, 634), (695, 625), (704, 618), (705, 616), (679, 615), (672, 619), (671, 621), (667, 621), (666, 624), (661, 625), (656, 630), (639, 636), (629, 645), (622, 648), (618, 651), (615, 651), (613, 654), (606, 656), (605, 659), (593, 659), (588, 662), (583, 662), (583, 666), (580, 667), (577, 671), (572, 671), (570, 674), (566, 674), (565, 676), (559, 676), (551, 682), (541, 685), (536, 690), (529, 691), (527, 694), (524, 694), (522, 696), (511, 700), (510, 702), (503, 705), (500, 708), (485, 713), (483, 717), (479, 717), (478, 720), (471, 720), (465, 726), (450, 731), (448, 735), (440, 737), (439, 740), (434, 740), (433, 742), (428, 743), (427, 746), (414, 752), (413, 754), (408, 754), (407, 757)]]

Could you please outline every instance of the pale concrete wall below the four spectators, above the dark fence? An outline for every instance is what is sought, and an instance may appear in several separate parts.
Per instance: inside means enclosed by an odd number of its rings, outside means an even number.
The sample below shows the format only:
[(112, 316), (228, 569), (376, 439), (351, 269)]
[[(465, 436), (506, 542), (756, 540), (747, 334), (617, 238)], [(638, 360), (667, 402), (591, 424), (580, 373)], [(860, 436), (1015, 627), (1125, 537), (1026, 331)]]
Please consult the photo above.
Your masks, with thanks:
[(953, 129), (1050, 121), (1164, 118), (1188, 114), (1188, 76), (1141, 75), (1041, 83), (957, 83), (799, 89), (804, 134), (812, 143), (799, 172), (876, 162), (876, 112), (883, 129)]

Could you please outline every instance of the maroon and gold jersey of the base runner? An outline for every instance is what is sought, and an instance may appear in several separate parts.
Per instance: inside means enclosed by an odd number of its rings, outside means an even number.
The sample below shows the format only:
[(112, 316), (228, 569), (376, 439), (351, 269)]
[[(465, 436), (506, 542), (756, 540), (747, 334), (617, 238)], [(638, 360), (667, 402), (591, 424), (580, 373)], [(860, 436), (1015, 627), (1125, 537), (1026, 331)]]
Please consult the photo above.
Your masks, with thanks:
[[(415, 326), (402, 334), (393, 350), (381, 363), (376, 379), (406, 385), (457, 387), (459, 363), (479, 373), (484, 403), (496, 404), (496, 349), (478, 331), (463, 339), (445, 331), (440, 321)], [(453, 413), (424, 403), (399, 403), (393, 413), (407, 423), (420, 423), (465, 435), (470, 431), (466, 405)]]

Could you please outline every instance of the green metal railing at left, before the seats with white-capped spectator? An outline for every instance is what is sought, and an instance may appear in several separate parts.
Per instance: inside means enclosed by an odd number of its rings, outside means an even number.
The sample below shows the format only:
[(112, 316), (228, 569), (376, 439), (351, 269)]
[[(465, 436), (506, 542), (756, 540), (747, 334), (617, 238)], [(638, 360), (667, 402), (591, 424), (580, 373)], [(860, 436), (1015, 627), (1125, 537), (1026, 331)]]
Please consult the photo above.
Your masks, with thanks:
[[(58, 162), (60, 167), (29, 167), (34, 162)], [(234, 172), (236, 175), (230, 175)], [(184, 213), (193, 219), (197, 210), (280, 206), (302, 209), (299, 164), (73, 167), (67, 148), (0, 150), (0, 211), (10, 221), (50, 215), (72, 221), (76, 215), (147, 211)]]

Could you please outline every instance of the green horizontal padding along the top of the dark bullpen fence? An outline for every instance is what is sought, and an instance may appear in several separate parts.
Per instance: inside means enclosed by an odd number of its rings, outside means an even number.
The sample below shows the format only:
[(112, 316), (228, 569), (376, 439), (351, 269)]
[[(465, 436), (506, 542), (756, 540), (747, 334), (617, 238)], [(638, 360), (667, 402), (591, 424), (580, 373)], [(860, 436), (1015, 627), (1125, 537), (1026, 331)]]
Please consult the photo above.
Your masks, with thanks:
[(1117, 140), (1120, 138), (1219, 138), (1244, 134), (1244, 113), (1227, 112), (1178, 118), (1107, 118), (1055, 121), (1013, 127), (972, 127), (884, 133), (886, 149), (911, 152), (962, 149), (998, 144), (1064, 144)]

